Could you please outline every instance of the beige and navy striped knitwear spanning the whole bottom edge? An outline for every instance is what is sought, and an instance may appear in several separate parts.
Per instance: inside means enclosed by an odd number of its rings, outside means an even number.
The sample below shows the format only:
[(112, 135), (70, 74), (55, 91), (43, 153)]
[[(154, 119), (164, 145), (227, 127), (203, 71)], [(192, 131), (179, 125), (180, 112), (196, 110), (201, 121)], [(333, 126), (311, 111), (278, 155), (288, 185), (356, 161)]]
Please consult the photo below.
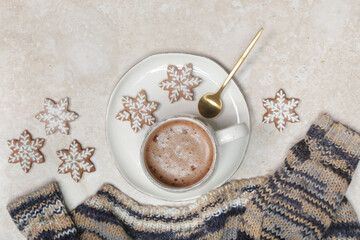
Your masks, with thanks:
[(28, 239), (360, 239), (344, 196), (359, 159), (360, 135), (321, 115), (273, 175), (233, 180), (183, 207), (141, 205), (105, 184), (68, 214), (51, 183), (8, 211)]

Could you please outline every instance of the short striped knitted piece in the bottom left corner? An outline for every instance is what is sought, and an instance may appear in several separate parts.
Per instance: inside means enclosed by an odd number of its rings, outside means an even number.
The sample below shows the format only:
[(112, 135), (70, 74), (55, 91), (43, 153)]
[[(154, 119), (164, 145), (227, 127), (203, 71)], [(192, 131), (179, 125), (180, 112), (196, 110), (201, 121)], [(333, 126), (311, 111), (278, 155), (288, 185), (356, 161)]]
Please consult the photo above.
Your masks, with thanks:
[(57, 183), (16, 199), (7, 206), (14, 223), (27, 239), (75, 240), (77, 230), (66, 212)]

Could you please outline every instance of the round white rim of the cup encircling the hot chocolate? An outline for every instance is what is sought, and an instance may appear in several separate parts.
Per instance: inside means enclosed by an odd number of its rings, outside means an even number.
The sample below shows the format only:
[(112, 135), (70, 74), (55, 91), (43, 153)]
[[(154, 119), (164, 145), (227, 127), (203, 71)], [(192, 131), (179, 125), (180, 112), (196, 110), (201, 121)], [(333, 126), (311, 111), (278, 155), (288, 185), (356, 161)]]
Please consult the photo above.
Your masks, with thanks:
[[(211, 142), (213, 144), (213, 149), (214, 149), (214, 154), (213, 154), (213, 160), (210, 166), (209, 171), (206, 173), (206, 175), (201, 178), (198, 182), (186, 186), (186, 187), (171, 187), (169, 185), (165, 185), (161, 182), (159, 182), (158, 180), (156, 180), (151, 173), (149, 172), (149, 170), (146, 167), (145, 164), (145, 146), (149, 140), (150, 135), (160, 126), (162, 126), (165, 123), (168, 122), (172, 122), (172, 121), (176, 121), (176, 120), (186, 120), (186, 121), (190, 121), (193, 122), (195, 124), (197, 124), (198, 126), (200, 126), (202, 129), (204, 129), (204, 131), (209, 135)], [(151, 126), (151, 128), (147, 131), (147, 133), (145, 134), (144, 140), (141, 144), (141, 148), (140, 148), (140, 162), (141, 162), (141, 167), (145, 173), (145, 175), (147, 176), (147, 178), (154, 183), (156, 186), (158, 186), (161, 189), (165, 189), (171, 192), (185, 192), (185, 191), (189, 191), (191, 189), (194, 189), (196, 187), (198, 187), (199, 185), (202, 185), (203, 183), (205, 183), (210, 176), (212, 175), (214, 168), (215, 168), (215, 164), (217, 162), (217, 157), (218, 157), (218, 142), (216, 140), (215, 134), (214, 134), (214, 130), (213, 128), (208, 125), (207, 123), (203, 122), (201, 119), (199, 119), (196, 116), (190, 115), (190, 114), (182, 114), (182, 115), (174, 115), (172, 117), (169, 118), (165, 118), (160, 120), (159, 122), (155, 123), (154, 125)]]

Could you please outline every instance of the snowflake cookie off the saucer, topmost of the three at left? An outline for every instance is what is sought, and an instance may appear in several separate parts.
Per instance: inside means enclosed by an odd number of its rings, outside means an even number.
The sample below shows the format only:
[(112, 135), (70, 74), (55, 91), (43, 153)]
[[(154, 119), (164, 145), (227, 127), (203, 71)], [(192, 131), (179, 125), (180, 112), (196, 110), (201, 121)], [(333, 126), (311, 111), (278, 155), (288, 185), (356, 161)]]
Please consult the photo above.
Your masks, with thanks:
[(35, 118), (40, 122), (45, 122), (45, 132), (47, 135), (59, 130), (62, 134), (69, 134), (69, 122), (78, 118), (75, 112), (69, 111), (69, 99), (63, 98), (58, 103), (46, 98), (44, 101), (45, 111), (38, 113)]

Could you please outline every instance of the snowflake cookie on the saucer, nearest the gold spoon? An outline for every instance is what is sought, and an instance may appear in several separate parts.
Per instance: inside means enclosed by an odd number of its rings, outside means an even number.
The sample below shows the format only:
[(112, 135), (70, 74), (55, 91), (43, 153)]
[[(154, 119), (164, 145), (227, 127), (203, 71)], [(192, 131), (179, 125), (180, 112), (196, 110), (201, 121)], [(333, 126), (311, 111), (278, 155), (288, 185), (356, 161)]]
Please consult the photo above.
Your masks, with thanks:
[(174, 65), (168, 65), (168, 79), (162, 81), (159, 86), (169, 91), (169, 100), (171, 103), (176, 102), (183, 97), (185, 100), (194, 100), (192, 89), (199, 86), (201, 79), (192, 76), (193, 67), (191, 63), (185, 65), (182, 69), (178, 69)]

